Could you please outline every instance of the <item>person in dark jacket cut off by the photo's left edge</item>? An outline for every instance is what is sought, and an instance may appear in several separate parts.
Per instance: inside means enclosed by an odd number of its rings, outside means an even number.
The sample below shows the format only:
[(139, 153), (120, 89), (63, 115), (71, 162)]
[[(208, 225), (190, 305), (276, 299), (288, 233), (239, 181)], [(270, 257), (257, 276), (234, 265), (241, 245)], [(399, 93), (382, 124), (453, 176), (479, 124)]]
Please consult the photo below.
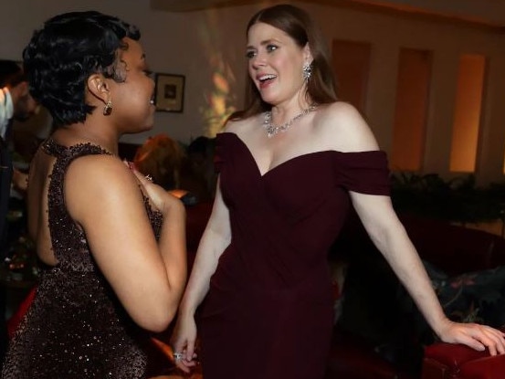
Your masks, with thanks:
[[(12, 163), (9, 143), (13, 121), (26, 121), (37, 112), (37, 102), (28, 92), (23, 69), (14, 60), (0, 60), (0, 262), (8, 252), (7, 213), (13, 187), (26, 191), (27, 175)], [(0, 362), (7, 343), (5, 325), (5, 289), (0, 288)]]

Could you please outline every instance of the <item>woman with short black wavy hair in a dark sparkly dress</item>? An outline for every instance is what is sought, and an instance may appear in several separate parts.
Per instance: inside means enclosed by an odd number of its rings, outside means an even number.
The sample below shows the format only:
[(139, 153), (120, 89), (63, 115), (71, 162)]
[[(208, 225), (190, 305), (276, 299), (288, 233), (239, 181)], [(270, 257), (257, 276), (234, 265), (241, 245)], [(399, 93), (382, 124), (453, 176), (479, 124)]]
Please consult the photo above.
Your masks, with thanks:
[(35, 154), (28, 231), (42, 273), (1, 377), (145, 378), (150, 332), (184, 290), (184, 205), (118, 157), (153, 128), (140, 31), (99, 12), (54, 16), (23, 52), (54, 132)]

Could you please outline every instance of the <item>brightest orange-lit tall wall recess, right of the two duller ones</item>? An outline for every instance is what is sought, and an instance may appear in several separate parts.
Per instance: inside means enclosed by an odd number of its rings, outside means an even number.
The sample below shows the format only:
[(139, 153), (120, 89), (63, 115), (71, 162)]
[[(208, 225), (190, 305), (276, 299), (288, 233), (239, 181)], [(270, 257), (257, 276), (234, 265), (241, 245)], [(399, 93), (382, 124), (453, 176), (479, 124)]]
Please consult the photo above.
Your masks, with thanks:
[(449, 167), (452, 172), (475, 172), (485, 70), (483, 56), (468, 54), (459, 59)]

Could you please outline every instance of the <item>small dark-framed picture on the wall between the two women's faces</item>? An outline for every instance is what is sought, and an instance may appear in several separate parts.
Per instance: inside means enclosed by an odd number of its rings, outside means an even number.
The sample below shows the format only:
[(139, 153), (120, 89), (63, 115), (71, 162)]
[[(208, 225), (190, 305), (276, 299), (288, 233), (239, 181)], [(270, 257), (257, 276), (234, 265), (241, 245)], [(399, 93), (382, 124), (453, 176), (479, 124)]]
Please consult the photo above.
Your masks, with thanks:
[(156, 111), (184, 110), (184, 75), (157, 73), (154, 104)]

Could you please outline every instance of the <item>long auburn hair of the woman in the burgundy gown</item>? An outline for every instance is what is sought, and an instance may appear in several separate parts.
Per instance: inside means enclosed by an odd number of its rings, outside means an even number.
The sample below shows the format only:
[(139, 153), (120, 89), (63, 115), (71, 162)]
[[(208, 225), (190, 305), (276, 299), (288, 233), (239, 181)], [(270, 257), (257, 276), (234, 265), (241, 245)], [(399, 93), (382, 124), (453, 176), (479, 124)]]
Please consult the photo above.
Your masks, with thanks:
[[(328, 47), (324, 43), (321, 31), (307, 12), (294, 5), (270, 6), (252, 16), (247, 24), (247, 33), (251, 26), (258, 23), (268, 24), (282, 30), (293, 38), (300, 48), (309, 44), (313, 61), (311, 63), (312, 74), (305, 93), (308, 100), (316, 104), (327, 104), (338, 100)], [(261, 99), (258, 89), (248, 74), (246, 104), (245, 110), (233, 113), (229, 120), (244, 120), (271, 109), (271, 105)]]

